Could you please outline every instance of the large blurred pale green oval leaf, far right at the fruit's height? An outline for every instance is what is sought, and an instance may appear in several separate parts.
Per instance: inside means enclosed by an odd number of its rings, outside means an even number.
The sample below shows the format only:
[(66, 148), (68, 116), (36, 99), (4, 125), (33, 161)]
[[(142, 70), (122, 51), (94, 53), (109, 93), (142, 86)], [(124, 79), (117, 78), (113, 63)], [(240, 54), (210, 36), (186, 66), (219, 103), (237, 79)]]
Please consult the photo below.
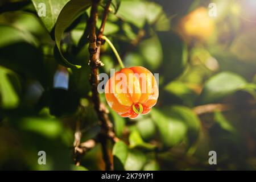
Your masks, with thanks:
[(246, 80), (236, 73), (221, 72), (209, 78), (205, 82), (203, 91), (199, 97), (199, 104), (216, 102), (222, 98), (243, 89)]

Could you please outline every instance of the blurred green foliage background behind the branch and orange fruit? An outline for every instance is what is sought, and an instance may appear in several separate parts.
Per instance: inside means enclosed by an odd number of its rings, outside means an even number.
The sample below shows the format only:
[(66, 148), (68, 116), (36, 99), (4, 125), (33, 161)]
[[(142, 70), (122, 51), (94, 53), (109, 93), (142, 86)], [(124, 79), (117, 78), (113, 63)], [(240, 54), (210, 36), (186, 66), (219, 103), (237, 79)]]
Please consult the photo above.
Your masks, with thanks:
[[(99, 144), (73, 165), (77, 121), (82, 141), (100, 127), (90, 99), (90, 8), (61, 24), (72, 16), (63, 9), (69, 1), (82, 7), (77, 0), (0, 2), (0, 169), (104, 169)], [(46, 16), (38, 16), (39, 3)], [(210, 3), (216, 17), (209, 16)], [(256, 169), (255, 10), (254, 0), (112, 2), (104, 34), (125, 66), (159, 73), (150, 114), (131, 120), (110, 110), (122, 140), (109, 142), (114, 169)], [(61, 56), (82, 67), (61, 66)], [(100, 72), (120, 69), (107, 44), (101, 60)], [(47, 165), (38, 164), (41, 150)], [(212, 150), (217, 165), (208, 163)]]

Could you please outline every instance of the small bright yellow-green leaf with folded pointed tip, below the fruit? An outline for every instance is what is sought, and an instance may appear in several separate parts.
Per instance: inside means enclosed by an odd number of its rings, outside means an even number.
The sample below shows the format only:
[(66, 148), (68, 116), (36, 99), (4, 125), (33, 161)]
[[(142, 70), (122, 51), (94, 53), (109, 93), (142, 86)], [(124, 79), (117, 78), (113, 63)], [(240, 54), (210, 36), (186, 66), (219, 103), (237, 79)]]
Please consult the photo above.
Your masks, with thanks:
[(142, 148), (143, 150), (152, 151), (155, 149), (155, 146), (150, 143), (146, 143), (141, 138), (141, 135), (137, 130), (131, 132), (129, 136), (129, 143), (131, 148)]

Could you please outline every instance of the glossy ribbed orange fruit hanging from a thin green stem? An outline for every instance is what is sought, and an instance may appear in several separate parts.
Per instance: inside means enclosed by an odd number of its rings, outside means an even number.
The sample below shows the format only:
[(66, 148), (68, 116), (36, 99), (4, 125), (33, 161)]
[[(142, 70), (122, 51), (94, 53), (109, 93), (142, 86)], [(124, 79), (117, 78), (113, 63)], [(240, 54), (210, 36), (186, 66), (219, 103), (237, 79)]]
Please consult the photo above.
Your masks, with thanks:
[[(120, 90), (118, 84), (120, 85), (122, 80), (121, 75), (126, 76), (127, 82)], [(115, 72), (105, 85), (108, 105), (121, 117), (131, 119), (137, 118), (139, 113), (149, 113), (158, 100), (158, 94), (155, 77), (144, 67), (123, 68)], [(139, 110), (139, 113), (136, 110)]]

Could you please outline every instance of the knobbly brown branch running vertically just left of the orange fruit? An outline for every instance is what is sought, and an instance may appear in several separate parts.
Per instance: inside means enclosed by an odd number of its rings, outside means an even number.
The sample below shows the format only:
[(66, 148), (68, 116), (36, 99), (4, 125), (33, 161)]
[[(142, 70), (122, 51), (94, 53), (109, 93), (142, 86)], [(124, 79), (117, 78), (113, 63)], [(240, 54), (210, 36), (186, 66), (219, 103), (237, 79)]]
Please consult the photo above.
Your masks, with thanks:
[(97, 6), (99, 1), (94, 0), (92, 3), (92, 9), (90, 11), (89, 18), (89, 53), (90, 53), (90, 61), (89, 65), (91, 67), (90, 73), (90, 84), (92, 85), (92, 100), (94, 104), (94, 109), (98, 115), (98, 119), (100, 120), (101, 132), (98, 135), (98, 140), (102, 146), (102, 154), (105, 162), (106, 170), (113, 170), (113, 160), (112, 156), (108, 151), (108, 138), (115, 138), (115, 134), (113, 132), (113, 125), (108, 117), (108, 109), (101, 104), (100, 97), (98, 94), (97, 86), (98, 86), (98, 67), (102, 66), (102, 62), (100, 61), (100, 49), (101, 49), (101, 40), (100, 36), (103, 35), (104, 27), (106, 23), (106, 19), (109, 12), (109, 6), (111, 1), (108, 1), (105, 10), (104, 17), (102, 18), (100, 33), (98, 35), (98, 39), (96, 36), (96, 21), (98, 16)]

